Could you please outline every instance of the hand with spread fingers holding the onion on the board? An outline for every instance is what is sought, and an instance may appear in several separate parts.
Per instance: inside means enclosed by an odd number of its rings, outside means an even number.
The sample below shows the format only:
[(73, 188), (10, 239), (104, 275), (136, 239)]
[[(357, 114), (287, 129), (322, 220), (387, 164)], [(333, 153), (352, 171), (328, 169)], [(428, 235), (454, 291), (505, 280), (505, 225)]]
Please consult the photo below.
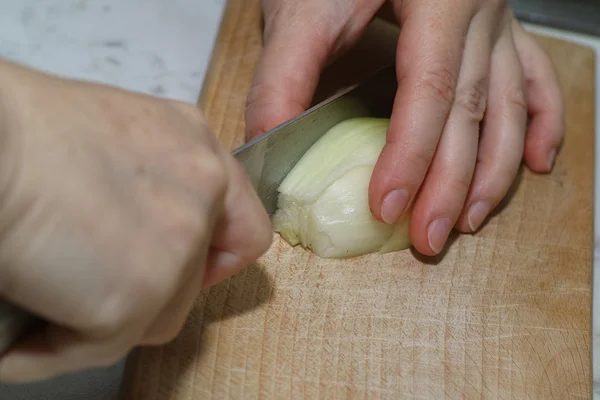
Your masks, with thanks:
[[(248, 96), (253, 137), (303, 112), (319, 74), (384, 0), (264, 0), (265, 50)], [(376, 218), (412, 207), (410, 234), (440, 253), (453, 227), (476, 231), (524, 158), (551, 170), (564, 134), (553, 66), (501, 0), (393, 0), (399, 89), (369, 188)], [(531, 119), (527, 127), (527, 119)]]

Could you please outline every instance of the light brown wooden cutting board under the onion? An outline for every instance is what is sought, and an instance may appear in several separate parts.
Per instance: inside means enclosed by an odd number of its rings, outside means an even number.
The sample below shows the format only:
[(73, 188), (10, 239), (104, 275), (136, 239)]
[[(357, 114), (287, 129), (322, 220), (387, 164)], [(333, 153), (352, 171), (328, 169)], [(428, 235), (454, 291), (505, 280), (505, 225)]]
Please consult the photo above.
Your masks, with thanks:
[[(231, 149), (261, 52), (259, 3), (229, 1), (200, 100)], [(397, 34), (375, 21), (316, 100), (393, 60)], [(131, 356), (124, 398), (590, 398), (595, 59), (539, 39), (567, 105), (551, 175), (524, 168), (483, 229), (436, 258), (326, 261), (276, 238), (201, 294), (177, 339)]]

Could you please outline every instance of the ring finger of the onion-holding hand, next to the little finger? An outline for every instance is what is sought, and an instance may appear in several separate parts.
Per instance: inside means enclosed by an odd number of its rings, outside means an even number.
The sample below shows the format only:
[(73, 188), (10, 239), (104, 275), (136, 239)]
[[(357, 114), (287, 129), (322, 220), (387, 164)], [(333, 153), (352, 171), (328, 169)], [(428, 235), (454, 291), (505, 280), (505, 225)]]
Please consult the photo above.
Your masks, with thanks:
[(457, 228), (477, 230), (510, 189), (521, 165), (527, 123), (523, 69), (510, 29), (492, 53), (490, 94), (475, 175)]

